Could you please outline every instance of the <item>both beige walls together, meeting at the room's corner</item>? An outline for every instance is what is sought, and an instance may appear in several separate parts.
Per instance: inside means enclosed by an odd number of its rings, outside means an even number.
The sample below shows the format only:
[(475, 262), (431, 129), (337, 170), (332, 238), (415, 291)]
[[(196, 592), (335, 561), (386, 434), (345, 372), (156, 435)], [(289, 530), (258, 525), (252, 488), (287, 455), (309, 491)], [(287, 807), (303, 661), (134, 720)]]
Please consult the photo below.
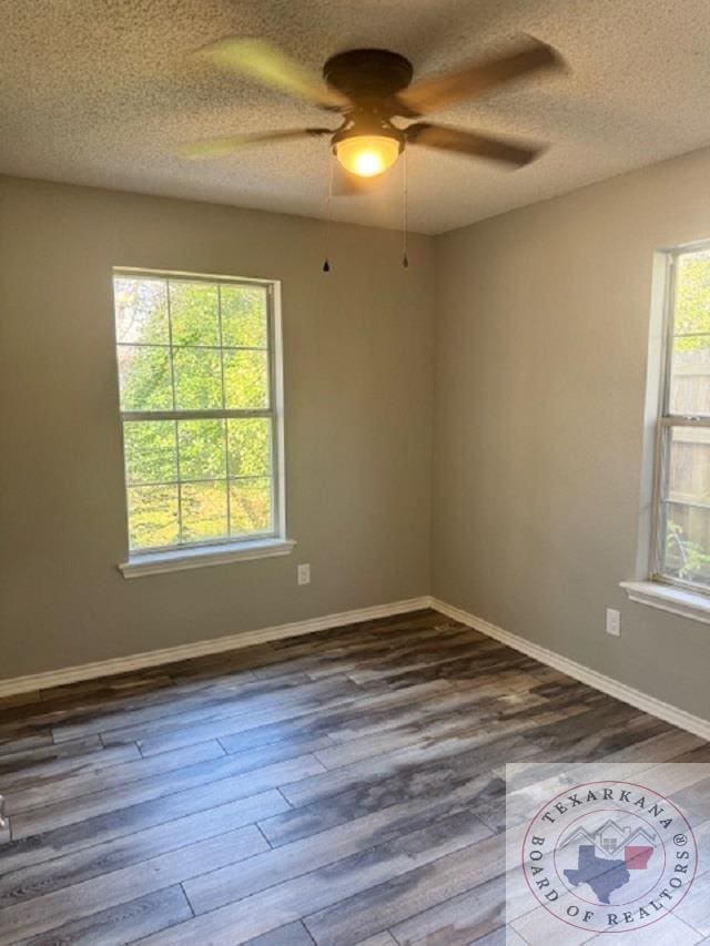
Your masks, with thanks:
[[(710, 236), (708, 180), (697, 152), (415, 237), (407, 272), (398, 234), (338, 225), (325, 276), (315, 221), (0, 179), (0, 677), (433, 591), (710, 716), (710, 628), (618, 587), (639, 567), (653, 254)], [(283, 281), (294, 556), (115, 570), (115, 264)]]

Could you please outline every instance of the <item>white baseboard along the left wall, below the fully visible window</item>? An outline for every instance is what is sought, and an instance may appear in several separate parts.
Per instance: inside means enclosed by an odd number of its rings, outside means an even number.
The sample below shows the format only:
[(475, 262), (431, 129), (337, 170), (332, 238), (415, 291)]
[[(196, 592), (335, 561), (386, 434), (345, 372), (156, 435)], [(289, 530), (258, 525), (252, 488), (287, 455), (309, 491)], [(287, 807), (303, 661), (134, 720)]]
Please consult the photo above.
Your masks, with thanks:
[(0, 680), (0, 696), (26, 693), (29, 690), (45, 690), (50, 686), (61, 686), (64, 683), (77, 683), (79, 680), (111, 677), (114, 673), (142, 670), (145, 667), (159, 667), (161, 663), (189, 660), (191, 657), (203, 657), (207, 653), (221, 653), (225, 650), (236, 650), (243, 647), (251, 647), (252, 644), (280, 640), (281, 638), (294, 638), (298, 634), (325, 631), (328, 628), (342, 628), (345, 624), (356, 624), (361, 621), (372, 621), (376, 618), (389, 618), (392, 614), (405, 614), (408, 611), (429, 608), (430, 603), (432, 599), (428, 596), (409, 598), (406, 601), (392, 601), (388, 604), (375, 604), (373, 608), (339, 611), (337, 614), (324, 614), (322, 618), (294, 621), (290, 624), (276, 624), (272, 628), (261, 628), (256, 631), (227, 634), (226, 637), (213, 638), (207, 641), (195, 641), (190, 644), (179, 644), (178, 647), (145, 651), (144, 653), (133, 653), (129, 657), (99, 660), (94, 663), (82, 663), (79, 667), (49, 670), (44, 673), (31, 673), (28, 677), (14, 677), (8, 680)]

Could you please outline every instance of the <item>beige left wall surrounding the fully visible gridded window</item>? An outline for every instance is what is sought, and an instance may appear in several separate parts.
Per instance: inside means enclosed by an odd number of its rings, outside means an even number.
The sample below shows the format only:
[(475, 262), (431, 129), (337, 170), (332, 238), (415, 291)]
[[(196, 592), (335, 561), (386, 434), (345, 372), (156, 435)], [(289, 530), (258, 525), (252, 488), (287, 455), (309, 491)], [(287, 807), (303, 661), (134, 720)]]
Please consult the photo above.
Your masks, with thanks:
[[(0, 179), (0, 677), (429, 590), (434, 246)], [(286, 558), (125, 581), (111, 267), (283, 281)], [(296, 563), (313, 583), (296, 587)]]

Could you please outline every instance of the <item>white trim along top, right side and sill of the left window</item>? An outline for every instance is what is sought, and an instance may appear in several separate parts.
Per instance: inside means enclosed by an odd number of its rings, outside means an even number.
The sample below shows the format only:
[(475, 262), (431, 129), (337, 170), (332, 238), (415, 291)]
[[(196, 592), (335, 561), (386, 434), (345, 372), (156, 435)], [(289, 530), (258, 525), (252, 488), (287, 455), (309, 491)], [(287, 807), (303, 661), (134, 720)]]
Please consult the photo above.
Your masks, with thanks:
[[(150, 551), (129, 551), (128, 561), (118, 566), (124, 578), (142, 578), (149, 574), (162, 574), (170, 571), (183, 571), (192, 568), (227, 564), (237, 561), (251, 561), (261, 558), (291, 555), (296, 546), (295, 540), (286, 538), (286, 470), (284, 439), (284, 380), (283, 380), (283, 332), (281, 311), (281, 282), (278, 279), (255, 279), (243, 276), (225, 276), (212, 273), (190, 273), (174, 269), (150, 269), (136, 266), (114, 266), (113, 274), (162, 276), (164, 278), (190, 278), (204, 282), (225, 281), (236, 284), (256, 284), (266, 286), (270, 301), (270, 394), (273, 407), (268, 414), (273, 416), (274, 444), (274, 532), (268, 536), (254, 536), (236, 541), (204, 542), (192, 546), (180, 546)], [(192, 411), (199, 414), (200, 411)], [(235, 411), (247, 415), (251, 411)], [(266, 411), (253, 411), (264, 415)], [(121, 425), (128, 414), (121, 411)], [(171, 411), (173, 415), (180, 411)], [(152, 416), (152, 415), (151, 415)], [(121, 438), (123, 440), (123, 438)], [(126, 508), (128, 527), (128, 508)], [(128, 532), (126, 532), (128, 533)]]

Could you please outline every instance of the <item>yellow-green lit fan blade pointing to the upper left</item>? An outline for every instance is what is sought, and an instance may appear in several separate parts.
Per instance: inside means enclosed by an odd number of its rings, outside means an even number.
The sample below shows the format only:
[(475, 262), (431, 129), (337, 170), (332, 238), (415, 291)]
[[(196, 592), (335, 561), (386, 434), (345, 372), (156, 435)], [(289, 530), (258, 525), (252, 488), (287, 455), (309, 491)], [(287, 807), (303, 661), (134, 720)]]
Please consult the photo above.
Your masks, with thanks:
[(300, 62), (264, 40), (227, 37), (199, 49), (195, 55), (323, 109), (338, 110), (351, 104), (345, 95), (328, 89)]

